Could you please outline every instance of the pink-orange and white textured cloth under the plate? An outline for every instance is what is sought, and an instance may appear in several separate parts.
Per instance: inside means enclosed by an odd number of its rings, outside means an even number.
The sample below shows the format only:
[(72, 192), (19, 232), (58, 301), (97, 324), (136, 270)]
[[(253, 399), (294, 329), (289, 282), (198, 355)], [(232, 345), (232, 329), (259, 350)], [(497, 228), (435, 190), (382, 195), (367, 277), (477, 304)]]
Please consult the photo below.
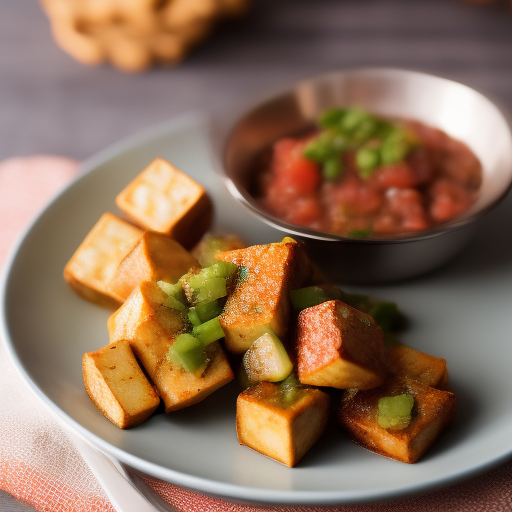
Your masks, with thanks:
[[(61, 157), (0, 163), (0, 264), (36, 212), (77, 173)], [(0, 489), (40, 511), (113, 512), (72, 442), (32, 395), (0, 345)], [(512, 463), (447, 490), (399, 501), (339, 506), (255, 507), (234, 504), (147, 477), (162, 498), (185, 512), (496, 512), (512, 510)]]

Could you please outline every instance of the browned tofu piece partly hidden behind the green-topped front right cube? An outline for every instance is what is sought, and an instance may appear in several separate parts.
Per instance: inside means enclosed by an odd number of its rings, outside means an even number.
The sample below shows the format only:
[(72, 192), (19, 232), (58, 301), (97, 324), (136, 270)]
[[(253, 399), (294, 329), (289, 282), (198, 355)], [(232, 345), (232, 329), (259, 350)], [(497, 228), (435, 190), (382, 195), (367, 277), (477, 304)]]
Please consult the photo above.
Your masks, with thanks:
[(414, 379), (425, 386), (448, 389), (448, 369), (446, 361), (405, 345), (386, 347), (386, 361), (394, 375)]

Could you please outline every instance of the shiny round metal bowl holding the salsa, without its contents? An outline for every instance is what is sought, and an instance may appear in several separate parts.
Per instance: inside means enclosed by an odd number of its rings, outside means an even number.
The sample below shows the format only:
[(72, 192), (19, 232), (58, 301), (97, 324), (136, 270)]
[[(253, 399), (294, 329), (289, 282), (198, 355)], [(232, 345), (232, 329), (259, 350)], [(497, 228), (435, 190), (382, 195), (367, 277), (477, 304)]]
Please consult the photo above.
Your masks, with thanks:
[[(334, 106), (360, 106), (382, 116), (419, 120), (465, 142), (480, 159), (480, 195), (464, 215), (409, 236), (350, 239), (284, 222), (263, 211), (250, 192), (254, 159), (278, 138), (310, 129)], [(226, 128), (225, 128), (226, 129)], [(413, 71), (371, 68), (302, 81), (246, 109), (228, 123), (222, 173), (232, 195), (262, 222), (306, 243), (333, 279), (383, 283), (414, 277), (446, 263), (512, 182), (512, 135), (504, 114), (481, 93)]]

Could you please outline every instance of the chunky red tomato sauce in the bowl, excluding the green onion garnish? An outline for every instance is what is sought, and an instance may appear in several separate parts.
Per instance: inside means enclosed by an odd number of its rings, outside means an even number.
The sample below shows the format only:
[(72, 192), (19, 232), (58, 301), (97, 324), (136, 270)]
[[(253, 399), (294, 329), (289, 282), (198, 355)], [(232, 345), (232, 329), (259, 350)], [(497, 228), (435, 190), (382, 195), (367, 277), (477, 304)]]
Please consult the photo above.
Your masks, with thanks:
[[(379, 161), (364, 173), (353, 147), (336, 153), (339, 162), (331, 158), (335, 168), (338, 164), (334, 176), (307, 158), (318, 130), (278, 140), (258, 174), (260, 205), (286, 222), (351, 237), (411, 234), (461, 215), (478, 195), (477, 157), (441, 130), (416, 121), (397, 123), (414, 143), (402, 159)], [(381, 142), (370, 137), (365, 147)]]

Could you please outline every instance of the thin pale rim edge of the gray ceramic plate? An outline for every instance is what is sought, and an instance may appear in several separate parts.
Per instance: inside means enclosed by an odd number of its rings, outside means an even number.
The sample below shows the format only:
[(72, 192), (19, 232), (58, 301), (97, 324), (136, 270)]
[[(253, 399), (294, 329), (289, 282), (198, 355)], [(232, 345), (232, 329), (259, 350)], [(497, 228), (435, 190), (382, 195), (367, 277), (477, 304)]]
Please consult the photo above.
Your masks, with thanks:
[[(121, 448), (111, 445), (108, 441), (90, 432), (76, 420), (71, 418), (59, 406), (57, 406), (35, 383), (29, 372), (25, 369), (23, 363), (18, 358), (15, 344), (11, 339), (8, 329), (7, 319), (7, 289), (10, 280), (11, 270), (14, 265), (16, 256), (21, 250), (24, 241), (32, 233), (39, 219), (50, 209), (59, 198), (66, 194), (67, 191), (74, 187), (85, 176), (97, 170), (100, 166), (108, 164), (108, 162), (123, 152), (134, 149), (137, 146), (143, 146), (158, 137), (172, 135), (173, 132), (179, 132), (187, 126), (196, 127), (204, 130), (206, 136), (209, 136), (207, 127), (210, 123), (210, 117), (201, 112), (189, 112), (180, 116), (173, 117), (161, 123), (152, 125), (146, 129), (137, 131), (127, 137), (120, 139), (108, 145), (106, 148), (95, 153), (80, 164), (79, 173), (71, 180), (59, 193), (55, 194), (49, 202), (42, 208), (21, 231), (15, 243), (5, 260), (1, 277), (0, 277), (0, 337), (6, 348), (6, 352), (18, 374), (28, 385), (32, 394), (38, 399), (45, 410), (57, 420), (58, 424), (64, 430), (71, 429), (74, 433), (91, 443), (100, 452), (108, 456), (113, 456), (128, 466), (144, 472), (149, 476), (158, 478), (165, 482), (169, 482), (194, 492), (208, 494), (220, 499), (228, 501), (238, 501), (244, 503), (257, 504), (289, 504), (289, 505), (348, 505), (356, 503), (368, 503), (379, 500), (399, 499), (407, 496), (421, 494), (427, 491), (435, 491), (440, 488), (454, 485), (462, 480), (469, 479), (480, 473), (498, 466), (502, 462), (509, 459), (512, 450), (504, 452), (499, 456), (490, 456), (470, 468), (455, 472), (448, 477), (431, 477), (421, 482), (409, 484), (406, 487), (396, 486), (385, 490), (340, 490), (340, 491), (301, 491), (301, 490), (275, 490), (264, 489), (260, 487), (249, 487), (240, 484), (225, 483), (214, 481), (209, 478), (198, 477), (192, 474), (184, 473), (164, 467), (156, 463), (149, 462), (146, 459), (132, 455)], [(212, 148), (206, 148), (213, 157)], [(216, 172), (216, 164), (212, 162), (212, 172)], [(290, 471), (296, 469), (290, 469)]]

